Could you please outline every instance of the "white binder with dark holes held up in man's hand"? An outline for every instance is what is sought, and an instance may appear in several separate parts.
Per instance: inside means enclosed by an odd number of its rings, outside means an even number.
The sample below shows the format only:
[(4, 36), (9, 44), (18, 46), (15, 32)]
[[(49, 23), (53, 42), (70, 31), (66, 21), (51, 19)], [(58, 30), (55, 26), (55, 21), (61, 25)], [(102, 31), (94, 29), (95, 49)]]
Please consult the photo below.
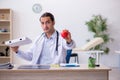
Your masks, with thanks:
[(11, 46), (11, 47), (26, 45), (29, 43), (32, 43), (32, 40), (29, 39), (28, 37), (21, 37), (21, 38), (5, 41), (5, 45)]

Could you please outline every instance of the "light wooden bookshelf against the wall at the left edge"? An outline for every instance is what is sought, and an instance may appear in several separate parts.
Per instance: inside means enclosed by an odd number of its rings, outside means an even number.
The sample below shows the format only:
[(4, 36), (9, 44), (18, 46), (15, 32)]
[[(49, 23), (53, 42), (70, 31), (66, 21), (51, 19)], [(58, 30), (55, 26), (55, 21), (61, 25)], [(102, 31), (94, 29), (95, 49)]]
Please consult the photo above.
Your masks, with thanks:
[(12, 10), (0, 9), (0, 63), (12, 61), (12, 51), (4, 44), (12, 39)]

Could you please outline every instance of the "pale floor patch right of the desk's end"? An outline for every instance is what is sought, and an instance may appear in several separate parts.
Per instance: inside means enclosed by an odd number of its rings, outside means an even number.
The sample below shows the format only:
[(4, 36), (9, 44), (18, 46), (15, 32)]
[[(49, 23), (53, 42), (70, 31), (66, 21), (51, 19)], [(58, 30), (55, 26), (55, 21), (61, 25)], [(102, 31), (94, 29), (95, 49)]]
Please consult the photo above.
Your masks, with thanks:
[(112, 68), (109, 72), (109, 80), (120, 80), (120, 68)]

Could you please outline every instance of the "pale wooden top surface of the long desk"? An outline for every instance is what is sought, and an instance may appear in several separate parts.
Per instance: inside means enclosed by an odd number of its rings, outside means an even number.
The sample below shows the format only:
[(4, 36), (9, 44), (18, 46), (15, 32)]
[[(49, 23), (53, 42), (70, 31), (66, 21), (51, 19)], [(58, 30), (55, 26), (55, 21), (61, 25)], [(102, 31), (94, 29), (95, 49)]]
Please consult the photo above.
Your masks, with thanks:
[(100, 67), (95, 68), (89, 68), (87, 64), (80, 64), (80, 67), (58, 67), (58, 66), (52, 66), (49, 69), (18, 69), (19, 65), (15, 66), (13, 69), (0, 69), (0, 71), (15, 71), (15, 72), (23, 72), (23, 71), (103, 71), (107, 70), (110, 71), (111, 69), (109, 67), (106, 67), (104, 65), (100, 65)]

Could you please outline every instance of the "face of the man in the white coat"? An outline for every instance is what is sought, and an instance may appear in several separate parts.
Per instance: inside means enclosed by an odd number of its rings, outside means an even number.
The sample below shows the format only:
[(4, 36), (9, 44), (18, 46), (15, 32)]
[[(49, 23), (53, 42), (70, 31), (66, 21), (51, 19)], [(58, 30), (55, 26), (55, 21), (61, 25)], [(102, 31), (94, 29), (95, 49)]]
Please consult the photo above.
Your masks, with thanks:
[(52, 33), (54, 31), (54, 21), (50, 17), (41, 17), (41, 26), (45, 33)]

